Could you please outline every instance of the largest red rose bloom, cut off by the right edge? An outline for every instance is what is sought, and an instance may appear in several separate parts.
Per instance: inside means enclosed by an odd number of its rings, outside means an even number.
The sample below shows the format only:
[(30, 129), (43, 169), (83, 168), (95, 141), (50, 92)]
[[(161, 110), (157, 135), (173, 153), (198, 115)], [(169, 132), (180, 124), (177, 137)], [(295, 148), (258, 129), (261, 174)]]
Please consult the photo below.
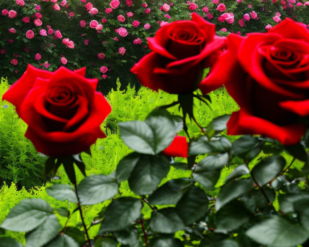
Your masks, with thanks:
[(286, 19), (267, 33), (231, 34), (228, 49), (199, 85), (208, 93), (223, 83), (238, 103), (227, 134), (260, 134), (292, 145), (309, 115), (309, 32)]

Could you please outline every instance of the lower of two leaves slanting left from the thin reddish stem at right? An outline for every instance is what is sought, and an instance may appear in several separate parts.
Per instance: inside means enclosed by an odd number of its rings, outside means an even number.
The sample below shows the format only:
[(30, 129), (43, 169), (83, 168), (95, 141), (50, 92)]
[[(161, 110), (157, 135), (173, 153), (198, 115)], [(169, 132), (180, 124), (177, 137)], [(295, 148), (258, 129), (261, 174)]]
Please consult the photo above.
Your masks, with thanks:
[(249, 191), (252, 186), (253, 181), (251, 178), (226, 182), (226, 184), (221, 187), (219, 195), (217, 196), (216, 210), (219, 211), (226, 203)]

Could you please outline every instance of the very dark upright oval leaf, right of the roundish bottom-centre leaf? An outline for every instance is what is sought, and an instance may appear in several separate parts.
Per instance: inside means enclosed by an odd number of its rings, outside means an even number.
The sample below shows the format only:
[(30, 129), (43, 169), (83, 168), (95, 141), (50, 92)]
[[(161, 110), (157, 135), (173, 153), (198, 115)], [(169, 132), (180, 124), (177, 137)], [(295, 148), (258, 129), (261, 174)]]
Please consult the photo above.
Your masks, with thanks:
[(186, 226), (205, 216), (208, 211), (208, 199), (205, 192), (191, 186), (176, 205), (176, 211)]

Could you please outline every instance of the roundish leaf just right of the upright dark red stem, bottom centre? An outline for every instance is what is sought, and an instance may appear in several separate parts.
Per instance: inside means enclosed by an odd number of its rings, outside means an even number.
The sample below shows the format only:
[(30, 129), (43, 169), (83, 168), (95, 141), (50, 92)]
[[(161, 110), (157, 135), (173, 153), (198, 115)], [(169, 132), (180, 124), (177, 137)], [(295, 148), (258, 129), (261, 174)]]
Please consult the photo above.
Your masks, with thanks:
[(155, 232), (174, 233), (185, 227), (175, 208), (172, 207), (153, 211), (151, 216), (150, 228)]

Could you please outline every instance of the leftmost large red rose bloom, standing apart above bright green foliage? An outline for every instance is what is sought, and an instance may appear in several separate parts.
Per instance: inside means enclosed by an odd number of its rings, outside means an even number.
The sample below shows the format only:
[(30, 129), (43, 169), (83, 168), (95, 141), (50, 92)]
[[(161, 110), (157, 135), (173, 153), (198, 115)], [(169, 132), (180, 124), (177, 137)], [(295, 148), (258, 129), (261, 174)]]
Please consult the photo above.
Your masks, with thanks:
[(3, 95), (28, 124), (25, 136), (38, 152), (50, 156), (80, 153), (97, 138), (111, 107), (95, 91), (98, 79), (85, 78), (86, 68), (55, 72), (28, 65), (23, 76)]

